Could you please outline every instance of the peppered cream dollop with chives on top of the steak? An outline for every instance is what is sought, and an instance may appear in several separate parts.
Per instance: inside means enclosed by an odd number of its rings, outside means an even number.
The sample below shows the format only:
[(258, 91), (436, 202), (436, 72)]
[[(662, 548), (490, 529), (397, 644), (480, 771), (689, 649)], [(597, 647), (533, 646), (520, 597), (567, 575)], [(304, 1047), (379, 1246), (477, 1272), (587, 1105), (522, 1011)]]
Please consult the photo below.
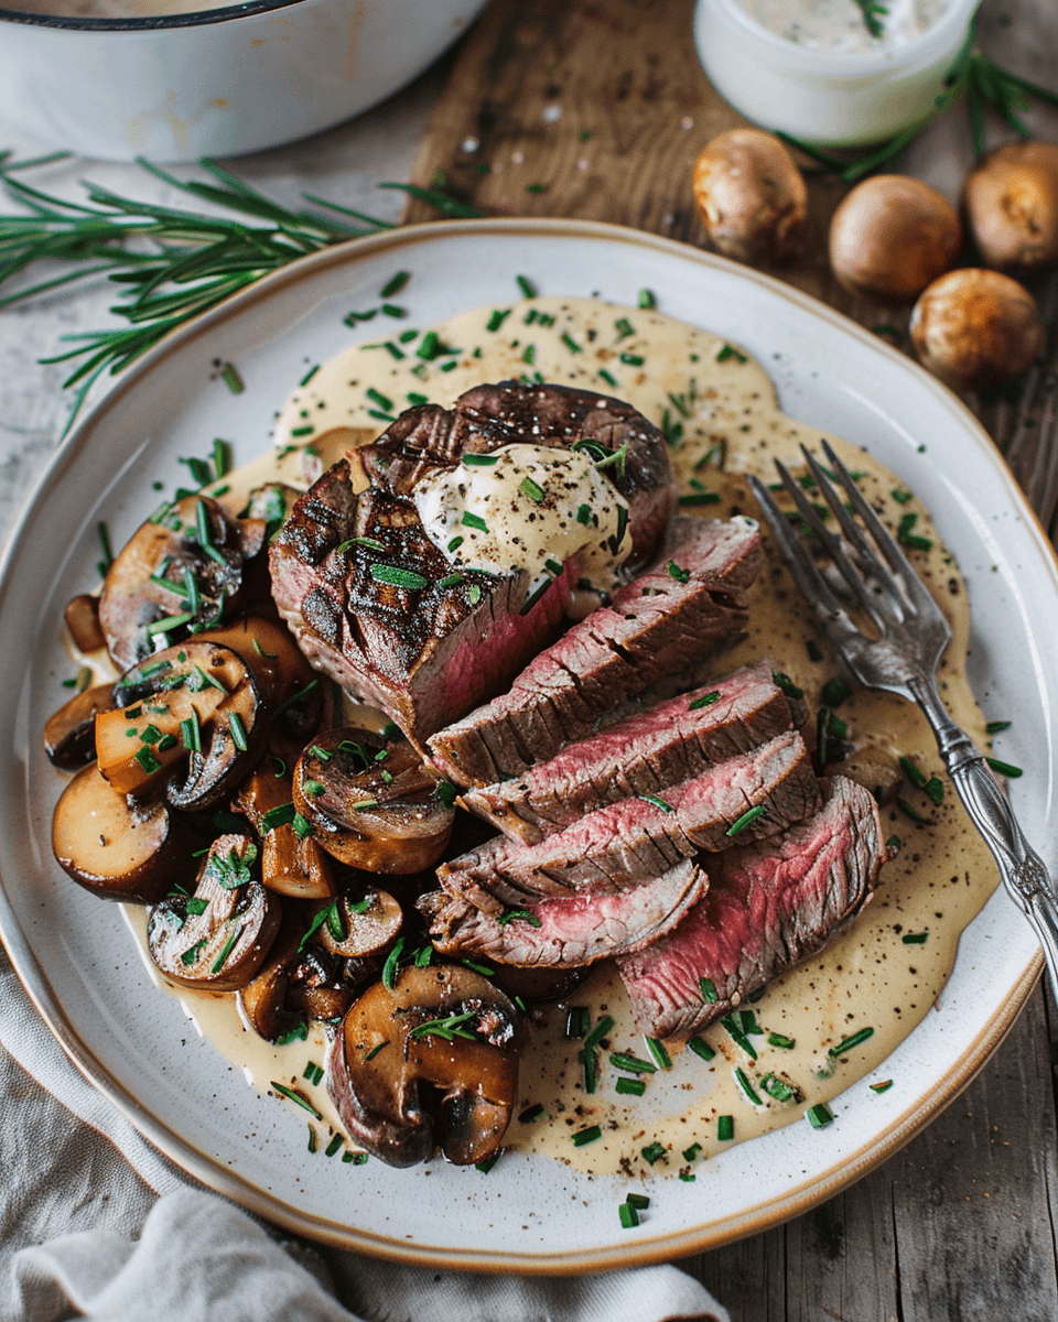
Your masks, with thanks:
[(455, 568), (526, 570), (530, 596), (573, 555), (581, 576), (608, 591), (631, 546), (628, 501), (590, 455), (554, 446), (467, 455), (454, 471), (421, 479), (414, 500), (430, 539)]

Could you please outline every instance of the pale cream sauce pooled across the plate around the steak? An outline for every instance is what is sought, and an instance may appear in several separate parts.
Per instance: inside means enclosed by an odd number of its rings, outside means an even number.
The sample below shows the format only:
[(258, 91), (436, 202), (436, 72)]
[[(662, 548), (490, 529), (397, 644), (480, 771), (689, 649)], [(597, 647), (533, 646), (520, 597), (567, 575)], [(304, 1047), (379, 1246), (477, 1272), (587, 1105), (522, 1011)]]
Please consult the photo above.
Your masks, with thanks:
[[(366, 430), (346, 428), (372, 426), (374, 403), (368, 390), (399, 399), (413, 393), (421, 401), (426, 389), (435, 402), (448, 405), (471, 385), (520, 375), (529, 336), (534, 348), (530, 357), (545, 379), (612, 393), (667, 430), (680, 489), (689, 502), (685, 509), (700, 508), (710, 517), (753, 514), (755, 505), (745, 475), (756, 472), (771, 481), (772, 457), (803, 472), (799, 444), (819, 446), (817, 430), (778, 410), (763, 368), (706, 332), (656, 312), (591, 300), (534, 299), (499, 311), (505, 316), (497, 330), (487, 329), (496, 323), (496, 309), (488, 308), (435, 328), (444, 344), (466, 346), (458, 357), (446, 360), (455, 361), (447, 371), (438, 370), (434, 361), (411, 354), (403, 361), (394, 360), (362, 346), (339, 354), (282, 411), (276, 456), (266, 456), (226, 477), (231, 492), (224, 501), (238, 508), (245, 493), (264, 480), (276, 463), (283, 480), (303, 486), (335, 451), (362, 443), (369, 435)], [(549, 324), (541, 325), (541, 319)], [(532, 329), (526, 330), (526, 325)], [(578, 349), (571, 350), (567, 341)], [(309, 446), (315, 453), (298, 449), (290, 436), (292, 427), (307, 426), (305, 418), (327, 419), (325, 426), (312, 426)], [(952, 627), (952, 642), (939, 674), (942, 694), (955, 719), (985, 747), (984, 717), (965, 678), (969, 616), (957, 567), (936, 537), (927, 512), (893, 473), (846, 442), (827, 439), (850, 469), (862, 473), (861, 489), (890, 527), (914, 514), (915, 534), (930, 539), (928, 551), (913, 550), (910, 557)], [(302, 442), (304, 446), (304, 434)], [(764, 546), (766, 561), (750, 594), (747, 636), (735, 649), (715, 658), (714, 670), (717, 676), (725, 674), (770, 656), (804, 690), (815, 710), (823, 686), (838, 674), (836, 657), (827, 640), (816, 633), (767, 537)], [(598, 1091), (583, 1091), (581, 1043), (563, 1036), (565, 1006), (534, 1010), (522, 1054), (518, 1112), (540, 1104), (544, 1114), (534, 1121), (512, 1122), (507, 1136), (509, 1147), (545, 1153), (599, 1174), (693, 1175), (709, 1155), (725, 1146), (718, 1138), (718, 1117), (733, 1117), (735, 1141), (800, 1118), (808, 1105), (827, 1101), (872, 1071), (879, 1071), (894, 1047), (936, 1005), (951, 972), (959, 933), (996, 886), (995, 863), (963, 813), (916, 707), (891, 695), (857, 689), (840, 703), (837, 713), (858, 748), (878, 751), (890, 761), (901, 755), (910, 758), (926, 776), (938, 777), (944, 795), (935, 805), (923, 792), (905, 784), (902, 797), (923, 818), (922, 824), (897, 806), (882, 809), (886, 833), (899, 839), (899, 854), (882, 869), (878, 892), (864, 915), (821, 954), (778, 978), (753, 1005), (756, 1023), (764, 1030), (763, 1035), (750, 1036), (758, 1059), (753, 1060), (717, 1023), (704, 1034), (715, 1051), (710, 1062), (672, 1044), (672, 1067), (644, 1076), (647, 1087), (641, 1097), (618, 1093), (622, 1073), (610, 1063), (610, 1052), (647, 1059), (649, 1055), (631, 1021), (616, 972), (602, 966), (573, 998), (573, 1003), (590, 1009), (592, 1025), (604, 1015), (614, 1019), (598, 1052)], [(130, 921), (142, 933), (142, 914), (130, 914)], [(905, 941), (907, 936), (923, 935), (924, 941)], [(156, 973), (155, 977), (163, 981)], [(313, 1084), (315, 1071), (305, 1076), (309, 1063), (324, 1063), (327, 1042), (319, 1025), (312, 1027), (307, 1042), (276, 1048), (242, 1026), (234, 997), (183, 989), (175, 994), (200, 1030), (242, 1067), (249, 1081), (262, 1091), (272, 1081), (295, 1088), (320, 1113), (321, 1118), (312, 1121), (320, 1141), (325, 1144), (332, 1133), (341, 1134), (325, 1096), (325, 1081)], [(831, 1048), (864, 1029), (872, 1029), (873, 1034), (862, 1044), (831, 1055)], [(791, 1039), (795, 1046), (772, 1046), (770, 1034)], [(742, 1091), (737, 1068), (754, 1088), (758, 1104)], [(760, 1080), (770, 1072), (796, 1085), (801, 1100), (788, 1104), (767, 1096)], [(885, 1079), (883, 1072), (873, 1081), (879, 1079)], [(898, 1077), (893, 1087), (901, 1087)], [(873, 1100), (864, 1083), (862, 1105), (870, 1107)], [(288, 1100), (283, 1104), (294, 1105)], [(575, 1146), (571, 1136), (592, 1125), (599, 1125), (602, 1136)], [(655, 1155), (653, 1144), (661, 1146), (663, 1155), (652, 1165), (643, 1149)]]

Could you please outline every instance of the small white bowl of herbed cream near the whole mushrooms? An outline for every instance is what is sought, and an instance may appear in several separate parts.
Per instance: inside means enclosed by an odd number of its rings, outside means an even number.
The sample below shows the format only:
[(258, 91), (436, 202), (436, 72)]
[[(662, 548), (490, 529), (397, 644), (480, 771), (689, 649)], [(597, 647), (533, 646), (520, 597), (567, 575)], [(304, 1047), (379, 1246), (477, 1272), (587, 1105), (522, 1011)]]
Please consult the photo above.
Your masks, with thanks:
[(930, 114), (979, 3), (879, 0), (872, 21), (857, 0), (698, 0), (694, 41), (749, 119), (860, 147)]

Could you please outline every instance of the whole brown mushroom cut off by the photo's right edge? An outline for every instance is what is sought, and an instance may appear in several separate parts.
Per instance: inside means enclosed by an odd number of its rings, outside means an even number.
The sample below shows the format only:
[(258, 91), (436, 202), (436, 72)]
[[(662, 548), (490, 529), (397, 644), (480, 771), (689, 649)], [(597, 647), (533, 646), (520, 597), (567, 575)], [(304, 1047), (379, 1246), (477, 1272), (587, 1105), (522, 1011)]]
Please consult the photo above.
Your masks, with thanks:
[(1058, 262), (1058, 144), (989, 152), (971, 171), (963, 205), (985, 266), (1024, 275)]

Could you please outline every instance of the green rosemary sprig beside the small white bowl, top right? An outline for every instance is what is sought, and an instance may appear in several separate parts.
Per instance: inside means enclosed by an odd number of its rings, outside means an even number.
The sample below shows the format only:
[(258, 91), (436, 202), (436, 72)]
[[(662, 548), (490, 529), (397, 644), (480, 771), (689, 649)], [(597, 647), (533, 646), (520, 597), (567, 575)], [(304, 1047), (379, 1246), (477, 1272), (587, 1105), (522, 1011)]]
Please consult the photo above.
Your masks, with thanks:
[[(857, 0), (857, 3), (864, 3), (864, 0)], [(866, 3), (869, 3), (869, 0), (866, 0)], [(866, 9), (864, 12), (866, 17)], [(775, 134), (778, 137), (782, 137), (783, 141), (790, 143), (792, 147), (803, 151), (807, 156), (811, 156), (817, 165), (823, 167), (824, 172), (837, 175), (842, 184), (854, 184), (865, 175), (869, 175), (873, 169), (877, 169), (879, 165), (885, 165), (887, 161), (893, 160), (894, 156), (898, 156), (905, 147), (907, 147), (907, 144), (922, 132), (926, 124), (931, 123), (939, 115), (943, 115), (944, 111), (963, 93), (967, 94), (967, 110), (969, 114), (971, 132), (973, 135), (973, 149), (979, 157), (984, 155), (985, 103), (995, 106), (1006, 123), (1022, 137), (1029, 137), (1030, 134), (1018, 112), (1028, 107), (1029, 97), (1038, 97), (1039, 100), (1046, 100), (1051, 106), (1058, 106), (1058, 94), (1047, 91), (1046, 87), (1037, 87), (1036, 83), (1030, 83), (1025, 78), (1018, 78), (1016, 74), (1010, 74), (1005, 69), (1000, 69), (998, 65), (993, 63), (988, 56), (983, 54), (983, 52), (977, 49), (975, 20), (971, 24), (965, 41), (959, 49), (959, 53), (956, 54), (955, 61), (944, 78), (944, 90), (938, 95), (930, 114), (918, 124), (905, 128), (894, 137), (890, 137), (887, 143), (883, 143), (881, 147), (875, 147), (865, 156), (860, 156), (852, 161), (841, 160), (828, 152), (821, 152), (811, 143), (801, 141), (799, 137), (782, 132), (782, 130), (775, 130)]]

